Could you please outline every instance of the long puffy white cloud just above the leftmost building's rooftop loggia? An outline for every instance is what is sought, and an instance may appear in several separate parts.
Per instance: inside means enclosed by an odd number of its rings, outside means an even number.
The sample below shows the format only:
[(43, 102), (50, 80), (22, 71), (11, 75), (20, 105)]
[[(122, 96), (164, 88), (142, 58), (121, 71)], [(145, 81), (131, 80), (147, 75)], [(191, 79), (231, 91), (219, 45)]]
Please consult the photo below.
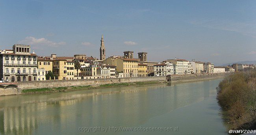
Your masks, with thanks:
[(60, 45), (66, 44), (65, 42), (53, 42), (53, 41), (49, 41), (45, 38), (35, 38), (35, 37), (26, 37), (24, 40), (19, 41), (19, 44), (32, 44), (32, 45), (42, 45), (42, 46), (51, 46), (51, 47), (58, 47)]

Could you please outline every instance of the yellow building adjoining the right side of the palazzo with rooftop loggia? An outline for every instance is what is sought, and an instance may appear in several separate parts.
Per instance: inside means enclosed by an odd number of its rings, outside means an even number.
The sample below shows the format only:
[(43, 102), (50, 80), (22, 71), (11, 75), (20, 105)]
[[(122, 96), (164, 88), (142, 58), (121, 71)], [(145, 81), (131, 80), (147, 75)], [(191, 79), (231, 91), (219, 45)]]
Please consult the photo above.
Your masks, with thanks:
[(44, 58), (37, 59), (37, 68), (45, 68), (45, 74), (48, 74), (49, 71), (52, 71), (52, 68), (53, 68), (52, 64), (53, 64), (53, 61), (51, 59), (44, 59)]

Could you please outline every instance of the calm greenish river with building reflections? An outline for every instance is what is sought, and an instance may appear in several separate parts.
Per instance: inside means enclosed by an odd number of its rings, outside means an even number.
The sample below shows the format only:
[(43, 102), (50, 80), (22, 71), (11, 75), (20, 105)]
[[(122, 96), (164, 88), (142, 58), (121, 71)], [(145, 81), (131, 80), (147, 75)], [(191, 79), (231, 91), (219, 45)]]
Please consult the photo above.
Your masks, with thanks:
[[(215, 88), (220, 81), (2, 96), (0, 134), (226, 135), (216, 100)], [(100, 94), (107, 91), (120, 92)], [(140, 131), (113, 131), (120, 126)], [(102, 127), (107, 132), (101, 131)], [(90, 128), (95, 132), (84, 132)], [(141, 131), (146, 128), (157, 131)]]

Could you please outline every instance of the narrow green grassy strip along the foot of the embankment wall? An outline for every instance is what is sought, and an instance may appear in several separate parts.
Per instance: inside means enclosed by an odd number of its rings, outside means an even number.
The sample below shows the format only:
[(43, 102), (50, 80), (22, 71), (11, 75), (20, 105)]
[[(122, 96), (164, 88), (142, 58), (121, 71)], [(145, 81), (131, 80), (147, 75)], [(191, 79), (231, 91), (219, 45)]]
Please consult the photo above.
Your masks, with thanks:
[(111, 83), (102, 84), (97, 86), (71, 86), (71, 87), (58, 87), (58, 88), (41, 88), (41, 89), (25, 89), (22, 90), (22, 94), (38, 94), (38, 93), (50, 93), (50, 92), (62, 92), (62, 91), (76, 91), (76, 90), (86, 90), (86, 89), (100, 89), (100, 88), (111, 88), (111, 87), (124, 87), (124, 86), (134, 86), (134, 85), (148, 85), (161, 83), (159, 81), (147, 81), (147, 82), (134, 82), (134, 83)]

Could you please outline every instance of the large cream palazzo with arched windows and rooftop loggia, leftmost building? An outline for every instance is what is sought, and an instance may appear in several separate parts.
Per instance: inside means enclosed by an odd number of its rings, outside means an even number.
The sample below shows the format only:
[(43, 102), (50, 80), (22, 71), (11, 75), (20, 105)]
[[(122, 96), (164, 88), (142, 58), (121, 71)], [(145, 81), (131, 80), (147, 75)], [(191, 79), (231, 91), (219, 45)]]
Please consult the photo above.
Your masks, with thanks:
[(7, 82), (36, 81), (37, 55), (30, 45), (14, 44), (13, 50), (0, 52), (0, 79)]

